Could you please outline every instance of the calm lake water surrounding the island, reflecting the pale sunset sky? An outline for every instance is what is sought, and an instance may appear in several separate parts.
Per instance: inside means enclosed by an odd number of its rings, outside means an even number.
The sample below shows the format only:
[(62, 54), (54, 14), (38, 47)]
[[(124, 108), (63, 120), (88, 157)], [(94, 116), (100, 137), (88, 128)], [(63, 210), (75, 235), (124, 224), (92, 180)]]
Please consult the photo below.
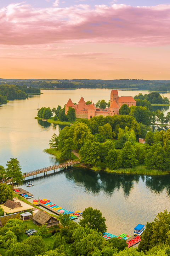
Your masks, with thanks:
[[(85, 101), (107, 102), (111, 90), (41, 90), (44, 94), (26, 100), (14, 100), (0, 106), (0, 165), (6, 166), (10, 158), (18, 158), (22, 171), (33, 171), (58, 163), (54, 156), (43, 152), (48, 148), (53, 133), (60, 132), (56, 124), (34, 119), (38, 104), (57, 107), (67, 103), (69, 97), (78, 103)], [(118, 90), (120, 96), (135, 96), (140, 91)], [(143, 92), (149, 93), (149, 92)], [(170, 93), (162, 94), (170, 99)], [(165, 112), (169, 112), (168, 109)], [(132, 234), (138, 223), (151, 222), (154, 215), (170, 211), (170, 176), (147, 177), (116, 175), (88, 169), (69, 169), (60, 173), (48, 172), (34, 179), (34, 187), (27, 190), (34, 198), (48, 198), (68, 210), (84, 210), (91, 206), (100, 209), (106, 218), (108, 232)], [(26, 185), (22, 186), (26, 188)]]

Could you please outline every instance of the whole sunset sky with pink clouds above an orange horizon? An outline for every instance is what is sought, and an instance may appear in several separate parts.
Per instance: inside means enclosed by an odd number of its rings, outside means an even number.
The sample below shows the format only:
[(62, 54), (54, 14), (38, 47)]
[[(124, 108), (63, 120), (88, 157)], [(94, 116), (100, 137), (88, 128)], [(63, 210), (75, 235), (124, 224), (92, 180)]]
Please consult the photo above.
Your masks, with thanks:
[(170, 80), (170, 2), (0, 0), (0, 78)]

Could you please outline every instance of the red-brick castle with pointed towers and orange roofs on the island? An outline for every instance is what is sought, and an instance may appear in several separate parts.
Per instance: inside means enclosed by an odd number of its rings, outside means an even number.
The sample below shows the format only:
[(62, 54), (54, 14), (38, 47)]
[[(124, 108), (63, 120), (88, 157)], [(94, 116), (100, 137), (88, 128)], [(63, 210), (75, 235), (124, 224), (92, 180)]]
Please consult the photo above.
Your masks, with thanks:
[(75, 109), (75, 114), (77, 118), (87, 118), (90, 119), (94, 116), (113, 116), (114, 114), (119, 114), (119, 108), (123, 104), (127, 104), (130, 106), (136, 106), (136, 101), (132, 96), (121, 96), (118, 95), (118, 90), (112, 90), (111, 91), (111, 101), (110, 101), (110, 107), (100, 109), (96, 108), (95, 104), (92, 103), (90, 105), (86, 105), (86, 102), (84, 101), (84, 98), (81, 96), (79, 102), (77, 105), (74, 105), (72, 100), (69, 98), (67, 104), (66, 104), (66, 114), (69, 107), (72, 107)]

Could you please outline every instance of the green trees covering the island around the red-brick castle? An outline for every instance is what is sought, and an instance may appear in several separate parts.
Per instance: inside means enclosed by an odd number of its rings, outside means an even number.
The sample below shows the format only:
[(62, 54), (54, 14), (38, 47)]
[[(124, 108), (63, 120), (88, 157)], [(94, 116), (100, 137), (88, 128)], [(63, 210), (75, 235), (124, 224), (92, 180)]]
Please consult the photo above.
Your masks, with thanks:
[[(58, 136), (53, 134), (51, 149), (46, 152), (67, 160), (72, 158), (74, 150), (81, 162), (94, 170), (104, 168), (108, 172), (167, 174), (170, 170), (170, 112), (166, 117), (159, 110), (154, 112), (148, 100), (168, 102), (168, 99), (155, 92), (134, 98), (137, 98), (138, 106), (124, 104), (119, 115), (100, 115), (89, 120), (76, 118), (72, 107), (69, 107), (67, 115), (65, 107), (41, 108), (38, 119), (72, 124), (64, 127)], [(96, 104), (103, 106), (108, 103), (101, 100)], [(165, 125), (166, 131), (155, 131), (157, 123)], [(138, 143), (139, 138), (146, 138), (146, 144)]]

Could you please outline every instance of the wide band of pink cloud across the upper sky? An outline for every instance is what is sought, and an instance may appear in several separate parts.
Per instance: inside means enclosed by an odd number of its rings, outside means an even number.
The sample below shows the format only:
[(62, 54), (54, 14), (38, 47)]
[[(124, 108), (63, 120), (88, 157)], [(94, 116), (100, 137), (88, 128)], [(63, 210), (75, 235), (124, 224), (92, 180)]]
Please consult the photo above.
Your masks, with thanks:
[[(54, 6), (58, 5), (58, 0)], [(129, 46), (170, 44), (170, 5), (75, 5), (34, 8), (10, 4), (0, 9), (0, 44), (55, 42), (117, 43)]]

